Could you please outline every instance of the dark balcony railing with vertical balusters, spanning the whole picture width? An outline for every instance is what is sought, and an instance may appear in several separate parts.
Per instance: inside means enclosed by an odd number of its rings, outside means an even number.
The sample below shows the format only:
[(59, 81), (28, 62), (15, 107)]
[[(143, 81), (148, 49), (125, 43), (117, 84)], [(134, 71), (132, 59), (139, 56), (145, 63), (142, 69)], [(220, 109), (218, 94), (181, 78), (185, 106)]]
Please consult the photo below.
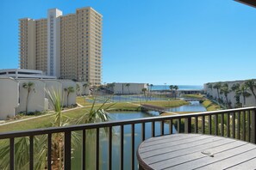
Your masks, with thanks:
[[(139, 118), (104, 122), (97, 124), (78, 124), (66, 127), (53, 127), (31, 131), (15, 131), (0, 133), (0, 141), (9, 141), (9, 169), (15, 167), (15, 141), (18, 137), (28, 137), (29, 141), (29, 167), (34, 169), (35, 137), (47, 137), (47, 169), (52, 168), (53, 135), (64, 136), (63, 148), (64, 169), (72, 169), (72, 162), (79, 162), (79, 169), (85, 169), (88, 164), (86, 160), (95, 156), (95, 169), (106, 166), (112, 169), (114, 164), (120, 168), (126, 168), (125, 162), (130, 169), (136, 169), (136, 149), (141, 142), (150, 137), (171, 135), (173, 133), (198, 133), (212, 136), (230, 137), (248, 143), (256, 143), (256, 107), (221, 110), (215, 112), (200, 112), (190, 114), (179, 114), (174, 116), (159, 116), (151, 118)], [(103, 136), (103, 130), (105, 135)], [(89, 131), (93, 131), (93, 144), (87, 145)], [(81, 136), (79, 145), (80, 156), (73, 156), (72, 134), (78, 132)], [(91, 135), (90, 135), (91, 136)], [(128, 138), (127, 138), (128, 137)], [(103, 142), (104, 141), (104, 142)], [(88, 155), (88, 150), (93, 146), (93, 153)], [(88, 148), (90, 147), (90, 148)], [(91, 149), (90, 149), (91, 150)], [(115, 152), (115, 153), (114, 153)], [(114, 154), (118, 154), (118, 157)], [(77, 161), (75, 161), (78, 159)], [(103, 160), (104, 161), (103, 161)], [(129, 162), (127, 162), (129, 160)]]

